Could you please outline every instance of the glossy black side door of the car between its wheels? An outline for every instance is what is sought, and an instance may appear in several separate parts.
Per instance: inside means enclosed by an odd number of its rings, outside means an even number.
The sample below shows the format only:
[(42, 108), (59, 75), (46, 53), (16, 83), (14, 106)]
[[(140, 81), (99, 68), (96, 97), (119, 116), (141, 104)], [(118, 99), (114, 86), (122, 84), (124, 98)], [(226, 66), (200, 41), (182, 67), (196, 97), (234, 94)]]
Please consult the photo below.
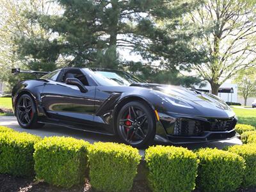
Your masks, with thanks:
[[(86, 74), (79, 68), (64, 70), (65, 74), (84, 76)], [(60, 74), (61, 76), (61, 74)], [(64, 79), (60, 81), (48, 80), (45, 83), (41, 95), (42, 106), (49, 118), (62, 120), (67, 124), (92, 124), (95, 114), (95, 86), (84, 84), (86, 92), (83, 93), (75, 85), (66, 84)]]

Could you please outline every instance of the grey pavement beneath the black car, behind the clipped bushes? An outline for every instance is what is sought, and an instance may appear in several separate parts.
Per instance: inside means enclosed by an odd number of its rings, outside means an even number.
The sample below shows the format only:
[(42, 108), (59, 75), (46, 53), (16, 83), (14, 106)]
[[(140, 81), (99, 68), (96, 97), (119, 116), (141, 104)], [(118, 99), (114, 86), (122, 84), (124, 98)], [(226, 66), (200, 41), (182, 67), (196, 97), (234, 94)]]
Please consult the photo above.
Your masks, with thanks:
[[(19, 132), (29, 132), (31, 134), (36, 134), (42, 138), (45, 136), (70, 136), (73, 138), (81, 139), (88, 141), (90, 143), (94, 143), (97, 141), (102, 142), (120, 142), (115, 136), (106, 136), (102, 134), (96, 134), (92, 132), (78, 131), (74, 129), (68, 129), (67, 127), (60, 126), (52, 126), (45, 125), (40, 129), (23, 129), (19, 126), (15, 116), (0, 116), (0, 125), (4, 125), (6, 127), (11, 127), (15, 129), (15, 131)], [(155, 143), (157, 145), (157, 143)], [(234, 138), (232, 140), (223, 140), (223, 141), (215, 141), (210, 143), (196, 143), (196, 144), (187, 144), (187, 145), (175, 145), (187, 147), (189, 149), (196, 149), (200, 147), (211, 147), (211, 148), (224, 148), (225, 146), (230, 145), (241, 145), (242, 142), (238, 138)], [(145, 150), (140, 150), (141, 156), (144, 155)]]

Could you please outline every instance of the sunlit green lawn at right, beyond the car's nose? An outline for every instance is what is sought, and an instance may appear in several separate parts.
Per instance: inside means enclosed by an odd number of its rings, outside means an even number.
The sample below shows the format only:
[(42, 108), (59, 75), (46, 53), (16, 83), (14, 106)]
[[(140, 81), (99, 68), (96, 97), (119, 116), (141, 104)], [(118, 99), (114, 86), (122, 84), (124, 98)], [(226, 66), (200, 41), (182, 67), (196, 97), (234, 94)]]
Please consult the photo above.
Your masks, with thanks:
[(256, 127), (256, 109), (232, 108), (236, 113), (239, 124), (248, 124)]

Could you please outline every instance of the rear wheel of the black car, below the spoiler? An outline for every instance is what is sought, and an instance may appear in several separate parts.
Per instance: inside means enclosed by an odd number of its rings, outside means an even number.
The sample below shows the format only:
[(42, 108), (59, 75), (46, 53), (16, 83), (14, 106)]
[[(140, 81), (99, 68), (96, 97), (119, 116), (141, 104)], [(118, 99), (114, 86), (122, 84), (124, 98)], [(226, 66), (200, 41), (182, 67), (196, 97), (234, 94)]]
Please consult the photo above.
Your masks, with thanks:
[(37, 122), (38, 115), (35, 101), (30, 95), (21, 95), (17, 101), (15, 115), (20, 127), (24, 129), (35, 129), (44, 126)]

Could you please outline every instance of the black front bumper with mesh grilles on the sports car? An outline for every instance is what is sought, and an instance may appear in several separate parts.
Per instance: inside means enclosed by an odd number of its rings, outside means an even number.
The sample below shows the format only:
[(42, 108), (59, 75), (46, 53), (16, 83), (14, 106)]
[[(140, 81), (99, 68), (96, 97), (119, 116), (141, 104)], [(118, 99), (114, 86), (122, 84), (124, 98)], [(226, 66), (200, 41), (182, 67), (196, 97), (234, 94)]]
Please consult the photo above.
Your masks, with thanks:
[(205, 118), (170, 113), (159, 113), (156, 141), (173, 144), (205, 143), (239, 138), (234, 127), (236, 117)]

